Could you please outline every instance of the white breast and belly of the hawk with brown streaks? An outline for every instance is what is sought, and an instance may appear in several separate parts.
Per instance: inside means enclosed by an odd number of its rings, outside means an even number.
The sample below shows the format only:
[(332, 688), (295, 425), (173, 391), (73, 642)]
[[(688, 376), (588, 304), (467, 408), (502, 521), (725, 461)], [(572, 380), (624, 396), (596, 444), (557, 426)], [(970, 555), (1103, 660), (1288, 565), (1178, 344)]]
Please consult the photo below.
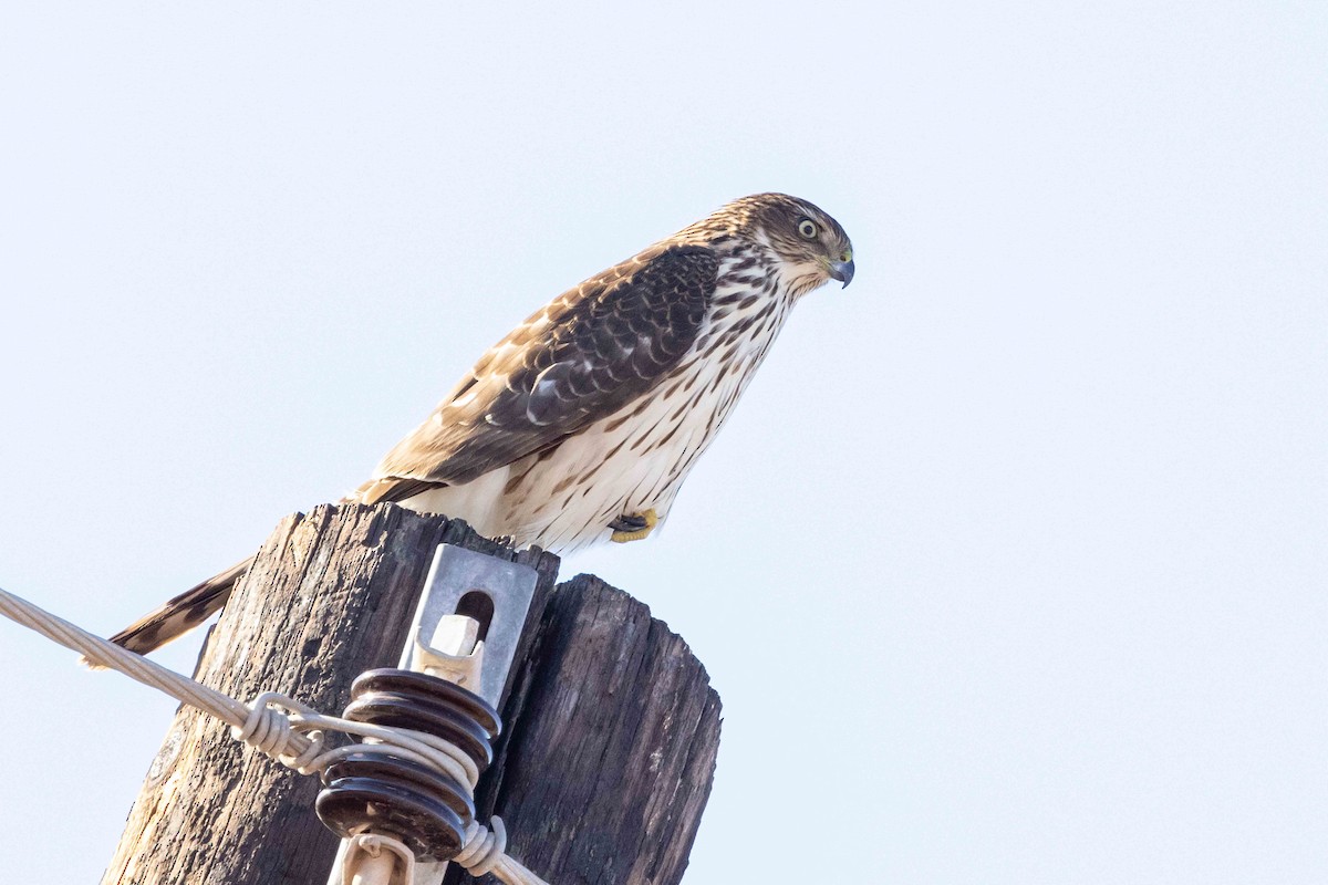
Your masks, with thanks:
[[(737, 261), (738, 256), (722, 259), (718, 279), (725, 280)], [(765, 269), (742, 273), (764, 277)], [(753, 295), (758, 297), (741, 306)], [(640, 406), (632, 402), (543, 456), (402, 503), (458, 516), (486, 536), (510, 536), (518, 545), (534, 543), (562, 553), (607, 540), (608, 524), (619, 516), (653, 510), (663, 521), (697, 456), (765, 360), (794, 297), (780, 275), (773, 291), (748, 283), (721, 284), (712, 301), (716, 304), (696, 342), (651, 391), (651, 405), (640, 414), (620, 421)], [(746, 330), (736, 329), (762, 313)], [(724, 360), (734, 344), (737, 352)], [(663, 395), (675, 386), (673, 395)], [(692, 405), (680, 411), (683, 403)]]

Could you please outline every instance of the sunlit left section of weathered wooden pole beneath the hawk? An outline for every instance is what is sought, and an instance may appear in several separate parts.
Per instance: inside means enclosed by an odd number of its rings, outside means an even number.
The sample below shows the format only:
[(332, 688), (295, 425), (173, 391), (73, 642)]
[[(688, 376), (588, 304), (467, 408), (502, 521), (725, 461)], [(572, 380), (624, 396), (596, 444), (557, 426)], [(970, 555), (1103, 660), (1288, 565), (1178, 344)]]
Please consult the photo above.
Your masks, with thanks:
[[(558, 559), (514, 555), (465, 523), (393, 506), (323, 506), (283, 520), (239, 582), (195, 678), (250, 699), (264, 690), (340, 711), (351, 681), (396, 666), (440, 543), (540, 571)], [(246, 750), (226, 727), (182, 709), (130, 812), (104, 885), (268, 885), (327, 881), (336, 837), (313, 813), (319, 783)]]

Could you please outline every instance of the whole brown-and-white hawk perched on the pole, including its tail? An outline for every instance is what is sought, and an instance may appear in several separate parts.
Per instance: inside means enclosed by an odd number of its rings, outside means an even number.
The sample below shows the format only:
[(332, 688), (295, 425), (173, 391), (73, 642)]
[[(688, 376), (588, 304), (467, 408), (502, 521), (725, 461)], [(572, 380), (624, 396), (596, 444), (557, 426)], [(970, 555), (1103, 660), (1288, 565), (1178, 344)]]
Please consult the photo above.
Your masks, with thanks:
[[(847, 234), (811, 203), (734, 200), (517, 326), (347, 500), (563, 553), (645, 537), (797, 300), (853, 269)], [(146, 653), (198, 626), (250, 561), (112, 640)]]

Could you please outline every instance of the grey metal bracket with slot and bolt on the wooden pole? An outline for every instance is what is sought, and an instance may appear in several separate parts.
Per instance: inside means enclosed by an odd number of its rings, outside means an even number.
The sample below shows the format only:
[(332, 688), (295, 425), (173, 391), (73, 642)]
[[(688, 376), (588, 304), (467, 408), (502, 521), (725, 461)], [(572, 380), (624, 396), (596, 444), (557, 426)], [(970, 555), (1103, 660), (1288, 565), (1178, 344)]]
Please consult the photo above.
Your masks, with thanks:
[(538, 581), (529, 565), (441, 544), (401, 667), (453, 679), (498, 707)]

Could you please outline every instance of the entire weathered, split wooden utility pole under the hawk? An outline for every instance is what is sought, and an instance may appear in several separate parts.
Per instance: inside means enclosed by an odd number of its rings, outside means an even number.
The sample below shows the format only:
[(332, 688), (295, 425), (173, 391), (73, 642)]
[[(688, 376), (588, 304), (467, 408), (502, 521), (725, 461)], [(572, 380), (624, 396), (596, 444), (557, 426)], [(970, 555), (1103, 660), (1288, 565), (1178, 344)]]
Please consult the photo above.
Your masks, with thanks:
[[(440, 543), (539, 573), (479, 820), (502, 816), (509, 853), (554, 885), (677, 882), (709, 796), (718, 695), (644, 605), (588, 576), (555, 585), (552, 555), (392, 504), (317, 507), (263, 545), (195, 678), (340, 713), (357, 674), (396, 665)], [(324, 885), (337, 839), (313, 813), (317, 791), (181, 709), (102, 885)], [(453, 865), (448, 881), (466, 880)]]

